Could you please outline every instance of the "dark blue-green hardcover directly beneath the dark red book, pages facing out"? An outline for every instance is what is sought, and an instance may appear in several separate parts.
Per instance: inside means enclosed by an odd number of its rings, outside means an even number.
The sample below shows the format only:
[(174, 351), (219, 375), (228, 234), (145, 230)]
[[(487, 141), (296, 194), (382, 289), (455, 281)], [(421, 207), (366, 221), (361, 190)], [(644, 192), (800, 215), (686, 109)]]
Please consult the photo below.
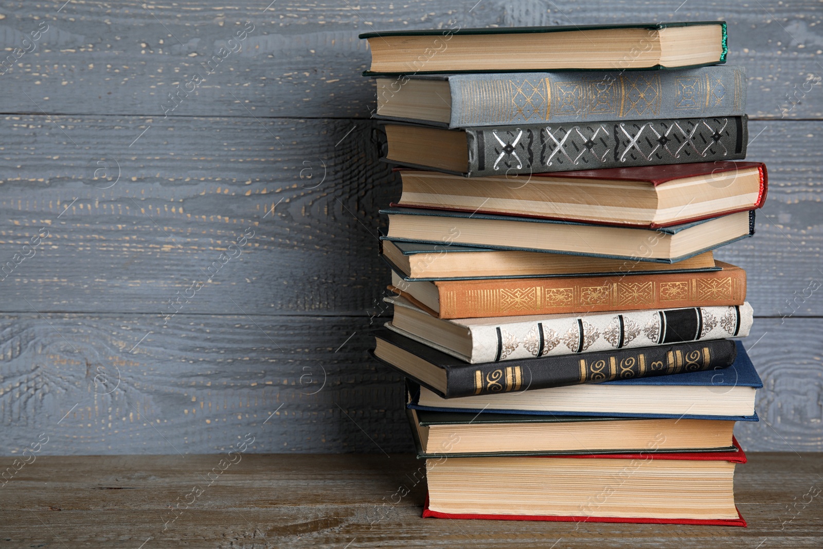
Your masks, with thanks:
[(755, 232), (755, 212), (650, 230), (533, 217), (418, 208), (380, 210), (395, 241), (677, 263)]

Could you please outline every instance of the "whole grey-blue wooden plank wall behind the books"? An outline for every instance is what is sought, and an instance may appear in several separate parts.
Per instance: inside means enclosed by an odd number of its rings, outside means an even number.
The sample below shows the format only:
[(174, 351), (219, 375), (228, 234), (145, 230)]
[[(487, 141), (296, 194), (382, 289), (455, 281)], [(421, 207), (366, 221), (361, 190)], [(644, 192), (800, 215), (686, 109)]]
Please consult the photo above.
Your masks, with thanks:
[(0, 454), (410, 450), (366, 355), (399, 187), (357, 34), (715, 19), (771, 184), (718, 254), (766, 385), (737, 435), (823, 449), (821, 2), (63, 2), (0, 2)]

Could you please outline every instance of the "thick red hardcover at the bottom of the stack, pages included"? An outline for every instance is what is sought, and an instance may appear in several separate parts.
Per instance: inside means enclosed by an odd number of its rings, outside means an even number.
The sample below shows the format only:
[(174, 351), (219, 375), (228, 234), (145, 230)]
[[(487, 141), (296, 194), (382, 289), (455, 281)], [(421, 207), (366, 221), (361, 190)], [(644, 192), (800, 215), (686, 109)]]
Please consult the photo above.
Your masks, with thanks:
[(746, 454), (733, 444), (733, 452), (427, 459), (423, 516), (746, 526), (732, 486)]

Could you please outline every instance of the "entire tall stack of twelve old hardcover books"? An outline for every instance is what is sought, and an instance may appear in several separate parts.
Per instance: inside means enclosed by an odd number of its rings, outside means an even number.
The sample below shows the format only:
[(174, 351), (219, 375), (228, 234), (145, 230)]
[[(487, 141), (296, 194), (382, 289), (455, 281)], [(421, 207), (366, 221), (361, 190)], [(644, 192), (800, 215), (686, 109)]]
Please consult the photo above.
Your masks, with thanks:
[(767, 174), (726, 24), (361, 38), (402, 179), (374, 356), (408, 380), (424, 516), (745, 526), (762, 384), (713, 250)]

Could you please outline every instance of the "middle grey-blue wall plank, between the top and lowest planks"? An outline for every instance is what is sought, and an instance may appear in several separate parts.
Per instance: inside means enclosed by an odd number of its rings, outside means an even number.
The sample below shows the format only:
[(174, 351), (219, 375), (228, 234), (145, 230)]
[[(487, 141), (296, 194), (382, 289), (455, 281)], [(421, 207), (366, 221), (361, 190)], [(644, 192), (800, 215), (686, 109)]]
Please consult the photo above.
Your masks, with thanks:
[[(34, 257), (2, 273), (0, 310), (168, 311), (246, 230), (249, 244), (207, 283), (220, 287), (189, 311), (367, 314), (379, 304), (388, 269), (377, 212), (400, 188), (378, 161), (374, 123), (152, 122), (64, 117), (63, 133), (42, 115), (0, 120), (0, 265), (49, 230)], [(808, 288), (823, 283), (816, 133), (811, 121), (751, 123), (749, 158), (769, 165), (769, 199), (756, 237), (718, 258), (746, 268), (756, 314), (823, 314)]]

